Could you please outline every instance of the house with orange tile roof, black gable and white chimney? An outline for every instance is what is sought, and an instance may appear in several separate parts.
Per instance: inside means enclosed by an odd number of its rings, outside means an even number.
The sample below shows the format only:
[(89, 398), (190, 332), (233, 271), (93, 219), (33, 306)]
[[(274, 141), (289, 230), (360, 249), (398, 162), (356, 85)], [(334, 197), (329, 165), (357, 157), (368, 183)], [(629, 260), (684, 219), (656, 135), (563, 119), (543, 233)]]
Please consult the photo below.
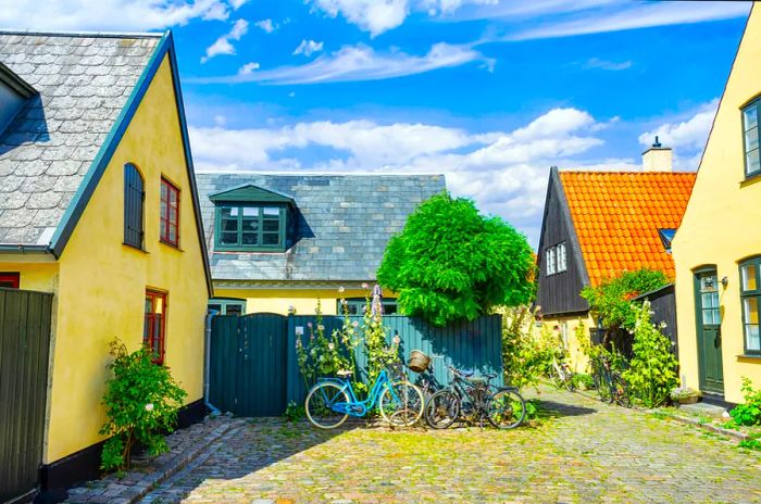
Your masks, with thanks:
[[(537, 304), (544, 327), (557, 331), (575, 371), (588, 364), (577, 328), (583, 325), (588, 340), (598, 327), (582, 289), (644, 267), (673, 279), (670, 239), (694, 182), (695, 173), (671, 171), (671, 149), (658, 142), (643, 154), (641, 172), (550, 169)], [(625, 351), (631, 339), (617, 335), (615, 344)]]

